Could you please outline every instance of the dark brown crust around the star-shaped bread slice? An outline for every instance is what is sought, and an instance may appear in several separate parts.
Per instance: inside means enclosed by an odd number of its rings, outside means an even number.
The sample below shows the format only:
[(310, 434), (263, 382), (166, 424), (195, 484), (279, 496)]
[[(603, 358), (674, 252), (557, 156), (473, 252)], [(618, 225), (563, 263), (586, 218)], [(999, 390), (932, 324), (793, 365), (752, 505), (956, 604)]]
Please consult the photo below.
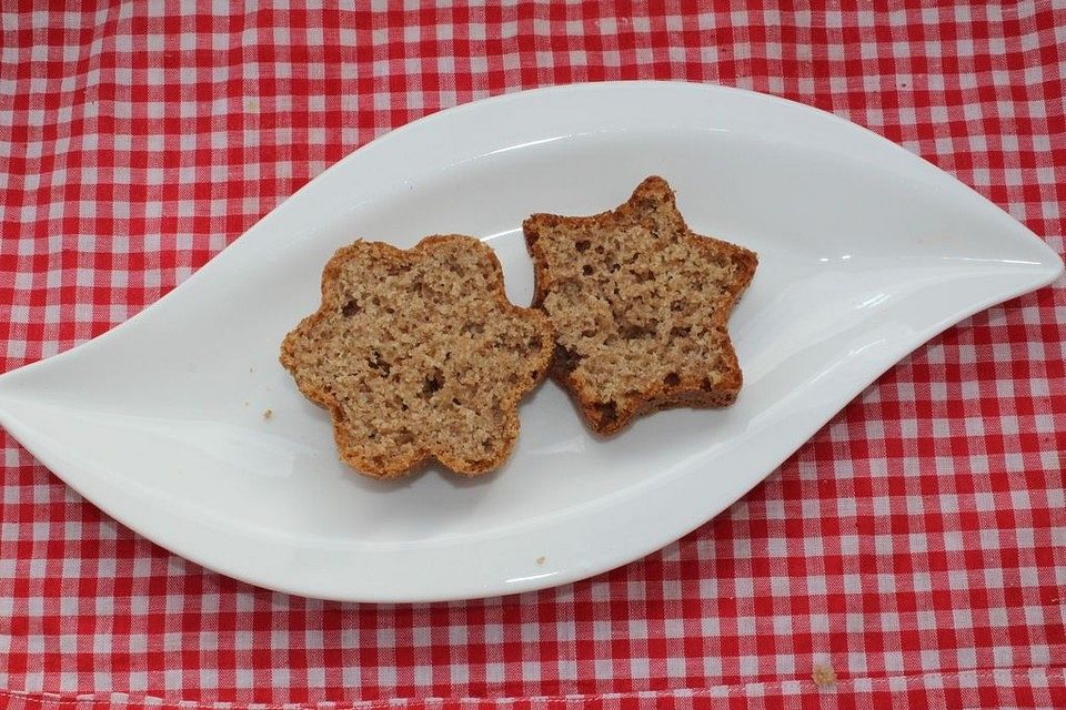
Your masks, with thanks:
[[(626, 202), (614, 210), (591, 216), (534, 214), (526, 219), (522, 227), (526, 248), (533, 258), (535, 280), (533, 307), (545, 310), (544, 302), (556, 285), (541, 243), (541, 234), (545, 229), (566, 229), (574, 232), (582, 231), (585, 234), (590, 231), (600, 232), (615, 227), (620, 223), (633, 222), (648, 205), (660, 205), (663, 202), (674, 206), (674, 192), (664, 179), (652, 175), (637, 185)], [(730, 283), (724, 284), (725, 295), (714, 314), (714, 322), (710, 324), (725, 331), (734, 305), (755, 275), (758, 256), (743, 246), (694, 233), (680, 213), (677, 213), (677, 227), (683, 231), (682, 239), (706, 254), (707, 258), (724, 257), (736, 265), (734, 277)], [(559, 329), (557, 324), (553, 325)], [(706, 381), (701, 376), (680, 375), (676, 382), (670, 384), (664, 382), (650, 384), (631, 405), (613, 409), (605, 409), (599, 393), (573, 375), (574, 366), (567, 362), (566, 353), (560, 352), (559, 346), (556, 346), (551, 374), (552, 378), (570, 393), (590, 428), (597, 434), (609, 436), (626, 427), (634, 418), (660, 409), (678, 406), (721, 407), (732, 404), (743, 385), (743, 374), (728, 337), (725, 338), (720, 354), (725, 361), (726, 372), (713, 387), (708, 388)]]

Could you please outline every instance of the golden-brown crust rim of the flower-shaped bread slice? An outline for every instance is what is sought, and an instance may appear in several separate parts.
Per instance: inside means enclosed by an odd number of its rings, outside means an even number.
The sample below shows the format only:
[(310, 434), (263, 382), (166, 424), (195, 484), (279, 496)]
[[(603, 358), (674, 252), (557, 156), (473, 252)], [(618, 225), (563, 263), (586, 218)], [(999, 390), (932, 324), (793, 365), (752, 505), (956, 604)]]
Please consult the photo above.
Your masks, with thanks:
[[(329, 291), (332, 282), (340, 277), (341, 271), (349, 260), (356, 255), (365, 256), (369, 253), (373, 258), (398, 264), (411, 264), (425, 257), (435, 248), (454, 245), (456, 243), (462, 243), (465, 248), (477, 252), (480, 258), (490, 264), (493, 274), (492, 283), (490, 284), (490, 296), (497, 312), (527, 321), (532, 323), (539, 332), (543, 346), (532, 354), (529, 361), (529, 367), (525, 368), (532, 369), (534, 376), (532, 378), (516, 379), (514, 386), (509, 389), (502, 398), (500, 408), (503, 415), (499, 422), (499, 432), (495, 433), (495, 436), (502, 439), (502, 445), (495, 448), (491, 456), (476, 459), (460, 458), (450, 455), (444, 449), (439, 449), (424, 443), (415, 446), (405, 455), (396, 454), (395, 456), (386, 458), (373, 456), (368, 452), (365, 442), (362, 440), (351, 427), (345, 426), (344, 413), (334, 394), (324, 387), (311, 386), (305, 379), (298, 377), (300, 369), (299, 351), (302, 346), (306, 345), (303, 336), (312, 332), (328, 318), (335, 316), (335, 308), (331, 308), (331, 304), (328, 303)], [(318, 311), (303, 318), (300, 324), (285, 336), (281, 344), (279, 359), (282, 366), (296, 379), (296, 384), (302, 394), (310, 400), (330, 410), (333, 420), (333, 437), (336, 442), (341, 460), (355, 468), (359, 473), (373, 478), (395, 478), (424, 467), (433, 460), (440, 462), (457, 474), (477, 476), (499, 468), (507, 459), (519, 434), (519, 403), (546, 376), (552, 356), (554, 333), (549, 318), (543, 313), (532, 308), (522, 308), (507, 300), (503, 285), (503, 270), (500, 265), (500, 260), (492, 248), (474, 237), (459, 234), (428, 236), (410, 250), (400, 250), (383, 242), (356, 241), (353, 244), (339, 248), (333, 257), (326, 262), (322, 271), (321, 292), (322, 302)]]

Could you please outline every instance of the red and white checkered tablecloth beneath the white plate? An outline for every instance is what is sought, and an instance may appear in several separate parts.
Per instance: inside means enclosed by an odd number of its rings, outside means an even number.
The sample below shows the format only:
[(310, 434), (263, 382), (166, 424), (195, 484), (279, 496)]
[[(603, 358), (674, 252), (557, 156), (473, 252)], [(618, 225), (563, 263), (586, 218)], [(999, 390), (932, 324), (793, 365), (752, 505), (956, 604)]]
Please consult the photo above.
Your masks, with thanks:
[[(0, 14), (3, 371), (151, 304), (375, 135), (553, 83), (715, 82), (826, 109), (1064, 251), (1060, 0), (18, 4)], [(1066, 707), (1064, 342), (1059, 281), (919, 348), (681, 541), (579, 584), (470, 602), (341, 605), (205, 571), (4, 434), (0, 698)], [(816, 668), (835, 683), (816, 684)]]

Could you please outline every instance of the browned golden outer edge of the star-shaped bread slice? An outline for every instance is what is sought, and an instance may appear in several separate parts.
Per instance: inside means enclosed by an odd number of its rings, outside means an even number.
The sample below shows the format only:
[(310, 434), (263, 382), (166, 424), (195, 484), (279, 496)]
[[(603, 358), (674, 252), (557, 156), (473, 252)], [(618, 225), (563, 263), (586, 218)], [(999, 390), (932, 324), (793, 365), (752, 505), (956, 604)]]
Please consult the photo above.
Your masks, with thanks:
[[(544, 308), (544, 300), (551, 288), (551, 274), (546, 267), (547, 258), (541, 251), (539, 244), (540, 230), (546, 225), (566, 226), (587, 224), (590, 221), (597, 227), (604, 227), (613, 221), (620, 213), (640, 209), (643, 200), (661, 200), (668, 197), (674, 200), (674, 192), (670, 184), (658, 175), (646, 178), (636, 189), (630, 199), (614, 210), (606, 210), (590, 216), (565, 216), (559, 214), (540, 213), (533, 214), (522, 223), (522, 231), (525, 235), (526, 248), (533, 258), (533, 303), (534, 308)], [(696, 247), (705, 251), (717, 251), (725, 253), (737, 264), (736, 285), (725, 307), (720, 311), (720, 323), (714, 325), (725, 326), (730, 315), (740, 301), (741, 296), (747, 290), (755, 276), (758, 267), (758, 255), (737, 244), (725, 242), (712, 236), (703, 236), (685, 226), (685, 237)], [(672, 407), (722, 407), (728, 406), (736, 400), (744, 384), (744, 376), (737, 362), (736, 351), (730, 339), (726, 339), (723, 357), (727, 361), (728, 375), (720, 382), (714, 390), (708, 392), (702, 386), (702, 382), (694, 377), (678, 377), (673, 385), (660, 383), (656, 386), (646, 389), (633, 406), (619, 410), (615, 409), (606, 416), (601, 407), (596, 406), (596, 397), (577, 379), (571, 376), (571, 368), (566, 366), (564, 354), (557, 353), (552, 362), (551, 376), (561, 387), (563, 387), (571, 398), (576, 403), (589, 427), (601, 436), (611, 436), (628, 426), (635, 418)]]

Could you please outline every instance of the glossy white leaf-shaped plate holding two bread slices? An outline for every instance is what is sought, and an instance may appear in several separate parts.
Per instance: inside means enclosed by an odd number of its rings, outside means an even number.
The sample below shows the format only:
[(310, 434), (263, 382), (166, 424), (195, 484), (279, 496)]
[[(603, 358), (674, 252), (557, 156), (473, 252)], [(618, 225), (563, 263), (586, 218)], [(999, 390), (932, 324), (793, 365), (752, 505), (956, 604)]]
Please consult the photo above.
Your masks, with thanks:
[[(339, 245), (474, 234), (525, 304), (522, 219), (612, 207), (652, 173), (693, 229), (760, 254), (731, 325), (734, 406), (601, 442), (549, 383), (495, 475), (385, 484), (338, 463), (328, 416), (276, 352)], [(0, 378), (0, 423), (108, 514), (233, 577), (346, 600), (516, 592), (684, 535), (902, 356), (1062, 268), (976, 193), (831, 114), (695, 84), (531, 91), (349, 155), (144, 313)]]

